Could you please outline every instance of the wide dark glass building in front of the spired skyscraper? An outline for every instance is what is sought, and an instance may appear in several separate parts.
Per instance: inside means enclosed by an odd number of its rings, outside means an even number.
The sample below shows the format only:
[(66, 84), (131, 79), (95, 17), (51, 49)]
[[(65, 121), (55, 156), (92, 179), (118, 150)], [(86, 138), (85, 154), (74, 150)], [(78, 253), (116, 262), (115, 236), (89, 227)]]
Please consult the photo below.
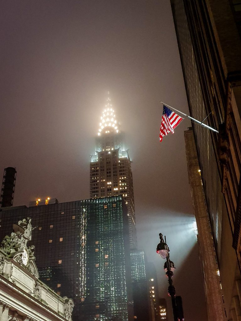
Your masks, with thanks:
[(41, 279), (75, 301), (74, 321), (133, 321), (128, 216), (120, 196), (2, 209), (0, 238), (32, 218)]

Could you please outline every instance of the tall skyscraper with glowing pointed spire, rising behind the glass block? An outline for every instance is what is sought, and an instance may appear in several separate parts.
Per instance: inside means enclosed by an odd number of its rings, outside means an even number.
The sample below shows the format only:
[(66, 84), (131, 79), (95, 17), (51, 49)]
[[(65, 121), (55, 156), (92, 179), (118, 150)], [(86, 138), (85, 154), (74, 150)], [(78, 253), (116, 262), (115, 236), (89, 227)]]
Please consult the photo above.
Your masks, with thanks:
[(90, 197), (121, 195), (128, 209), (130, 248), (137, 247), (131, 160), (110, 98), (100, 119), (95, 155), (90, 162)]

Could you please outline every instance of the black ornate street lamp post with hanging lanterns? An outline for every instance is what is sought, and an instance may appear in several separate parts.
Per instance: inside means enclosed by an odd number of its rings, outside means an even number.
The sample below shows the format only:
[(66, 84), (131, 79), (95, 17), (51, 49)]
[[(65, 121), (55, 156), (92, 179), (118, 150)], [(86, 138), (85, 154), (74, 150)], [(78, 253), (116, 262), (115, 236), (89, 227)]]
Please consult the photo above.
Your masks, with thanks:
[(164, 264), (164, 270), (166, 272), (166, 276), (168, 278), (168, 294), (172, 299), (172, 309), (173, 309), (173, 317), (174, 321), (183, 321), (183, 307), (182, 307), (182, 298), (180, 296), (176, 297), (176, 289), (173, 285), (173, 272), (175, 269), (174, 263), (170, 260), (169, 257), (169, 247), (166, 244), (166, 237), (165, 241), (163, 239), (162, 233), (159, 234), (160, 237), (160, 243), (156, 247), (156, 253), (159, 254), (159, 256), (162, 259), (166, 259), (166, 262)]

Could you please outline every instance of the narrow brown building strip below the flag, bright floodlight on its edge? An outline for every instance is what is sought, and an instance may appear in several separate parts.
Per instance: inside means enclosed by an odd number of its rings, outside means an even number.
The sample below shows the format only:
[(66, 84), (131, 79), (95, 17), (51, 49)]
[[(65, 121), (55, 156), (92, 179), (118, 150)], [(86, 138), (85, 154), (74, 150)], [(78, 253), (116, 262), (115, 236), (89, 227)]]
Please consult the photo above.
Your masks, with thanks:
[(194, 141), (192, 128), (184, 132), (187, 169), (192, 193), (194, 215), (198, 229), (198, 247), (204, 276), (204, 288), (206, 293), (207, 311), (209, 320), (225, 320), (225, 305), (220, 288), (219, 266), (217, 254), (213, 243), (212, 231), (207, 205), (203, 193), (201, 170)]

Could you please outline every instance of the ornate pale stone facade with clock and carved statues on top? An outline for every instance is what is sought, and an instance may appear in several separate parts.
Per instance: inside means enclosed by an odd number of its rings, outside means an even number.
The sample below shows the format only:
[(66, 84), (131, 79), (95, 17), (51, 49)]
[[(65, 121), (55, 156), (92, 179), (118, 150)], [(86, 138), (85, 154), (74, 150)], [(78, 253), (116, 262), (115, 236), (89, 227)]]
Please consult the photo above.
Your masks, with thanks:
[(13, 224), (0, 247), (0, 320), (72, 321), (72, 299), (60, 297), (39, 280), (31, 240), (31, 219)]

